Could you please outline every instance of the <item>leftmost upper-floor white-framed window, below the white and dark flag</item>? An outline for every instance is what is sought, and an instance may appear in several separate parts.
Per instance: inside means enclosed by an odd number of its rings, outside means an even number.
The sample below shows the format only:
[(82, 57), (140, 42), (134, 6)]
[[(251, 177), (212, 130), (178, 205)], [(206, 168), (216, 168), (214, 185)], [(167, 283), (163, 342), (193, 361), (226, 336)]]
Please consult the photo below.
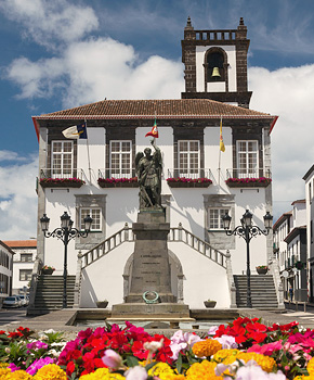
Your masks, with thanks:
[(73, 141), (52, 141), (52, 177), (73, 177)]

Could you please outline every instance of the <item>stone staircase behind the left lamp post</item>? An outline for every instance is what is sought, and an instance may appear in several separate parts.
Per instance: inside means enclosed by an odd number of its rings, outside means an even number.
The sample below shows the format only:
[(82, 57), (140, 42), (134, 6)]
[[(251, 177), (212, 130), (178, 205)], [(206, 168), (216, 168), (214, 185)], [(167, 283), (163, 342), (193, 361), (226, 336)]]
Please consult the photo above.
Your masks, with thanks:
[[(75, 276), (67, 277), (67, 307), (74, 305)], [(31, 314), (45, 314), (62, 308), (63, 276), (40, 275), (37, 280)], [(30, 311), (29, 311), (30, 312)], [(29, 314), (29, 313), (28, 313)]]

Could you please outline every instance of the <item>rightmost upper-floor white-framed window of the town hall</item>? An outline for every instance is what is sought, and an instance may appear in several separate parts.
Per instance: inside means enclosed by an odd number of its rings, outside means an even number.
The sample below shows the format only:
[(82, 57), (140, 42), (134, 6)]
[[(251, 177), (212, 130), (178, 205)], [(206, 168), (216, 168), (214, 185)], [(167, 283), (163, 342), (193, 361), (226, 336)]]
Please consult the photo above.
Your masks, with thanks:
[(237, 176), (259, 177), (258, 170), (258, 141), (237, 141)]

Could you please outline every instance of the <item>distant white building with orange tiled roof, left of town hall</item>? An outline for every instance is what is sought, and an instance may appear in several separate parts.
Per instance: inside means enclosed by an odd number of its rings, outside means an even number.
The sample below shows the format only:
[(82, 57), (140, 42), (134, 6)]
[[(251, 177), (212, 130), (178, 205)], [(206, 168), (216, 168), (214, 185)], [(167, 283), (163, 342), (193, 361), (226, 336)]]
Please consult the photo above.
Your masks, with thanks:
[(29, 290), (31, 271), (37, 255), (36, 240), (10, 240), (4, 241), (15, 255), (13, 257), (13, 294), (24, 294)]

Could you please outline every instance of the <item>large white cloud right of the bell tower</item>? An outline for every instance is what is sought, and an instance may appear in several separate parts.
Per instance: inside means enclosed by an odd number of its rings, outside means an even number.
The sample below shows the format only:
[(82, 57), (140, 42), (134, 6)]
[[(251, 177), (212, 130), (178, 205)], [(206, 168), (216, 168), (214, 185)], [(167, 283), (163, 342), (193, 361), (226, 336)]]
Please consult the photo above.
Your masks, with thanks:
[(278, 217), (305, 198), (302, 177), (314, 162), (314, 65), (249, 69), (250, 107), (278, 115), (272, 132), (273, 199)]

